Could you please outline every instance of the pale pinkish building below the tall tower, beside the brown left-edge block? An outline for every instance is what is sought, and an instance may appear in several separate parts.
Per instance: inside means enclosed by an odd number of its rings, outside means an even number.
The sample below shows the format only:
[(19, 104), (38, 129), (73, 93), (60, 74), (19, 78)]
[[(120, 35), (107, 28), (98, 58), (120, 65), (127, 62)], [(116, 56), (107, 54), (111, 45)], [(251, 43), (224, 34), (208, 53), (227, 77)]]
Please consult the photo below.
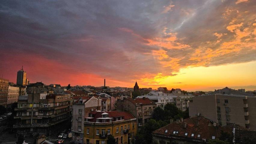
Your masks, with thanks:
[(20, 95), (20, 88), (17, 86), (8, 86), (7, 104), (17, 103)]

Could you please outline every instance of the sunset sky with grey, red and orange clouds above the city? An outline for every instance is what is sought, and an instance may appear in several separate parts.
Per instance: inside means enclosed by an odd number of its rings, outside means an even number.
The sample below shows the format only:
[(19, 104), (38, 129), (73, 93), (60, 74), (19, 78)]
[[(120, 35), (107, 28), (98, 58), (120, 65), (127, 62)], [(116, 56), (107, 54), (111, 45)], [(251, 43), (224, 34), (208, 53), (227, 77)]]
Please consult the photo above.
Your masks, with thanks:
[(0, 75), (61, 85), (256, 90), (256, 1), (0, 1)]

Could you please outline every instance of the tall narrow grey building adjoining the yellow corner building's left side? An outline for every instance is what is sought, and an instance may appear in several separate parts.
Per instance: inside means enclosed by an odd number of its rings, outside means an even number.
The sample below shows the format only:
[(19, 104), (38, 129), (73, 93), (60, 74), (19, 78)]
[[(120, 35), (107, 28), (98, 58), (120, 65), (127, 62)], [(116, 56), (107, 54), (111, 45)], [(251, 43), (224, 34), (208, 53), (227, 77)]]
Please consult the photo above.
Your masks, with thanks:
[[(84, 118), (92, 111), (101, 110), (101, 98), (80, 97), (72, 105), (72, 139), (75, 143), (83, 143)], [(79, 128), (78, 128), (79, 127)]]

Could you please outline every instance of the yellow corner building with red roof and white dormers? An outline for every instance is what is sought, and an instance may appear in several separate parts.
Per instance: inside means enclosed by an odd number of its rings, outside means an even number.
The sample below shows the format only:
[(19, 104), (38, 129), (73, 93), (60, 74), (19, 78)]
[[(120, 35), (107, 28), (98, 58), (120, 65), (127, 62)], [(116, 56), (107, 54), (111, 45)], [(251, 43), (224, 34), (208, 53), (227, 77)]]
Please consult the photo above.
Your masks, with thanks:
[(111, 134), (117, 144), (130, 144), (130, 138), (134, 138), (136, 131), (136, 118), (130, 112), (93, 111), (85, 118), (84, 143), (106, 144)]

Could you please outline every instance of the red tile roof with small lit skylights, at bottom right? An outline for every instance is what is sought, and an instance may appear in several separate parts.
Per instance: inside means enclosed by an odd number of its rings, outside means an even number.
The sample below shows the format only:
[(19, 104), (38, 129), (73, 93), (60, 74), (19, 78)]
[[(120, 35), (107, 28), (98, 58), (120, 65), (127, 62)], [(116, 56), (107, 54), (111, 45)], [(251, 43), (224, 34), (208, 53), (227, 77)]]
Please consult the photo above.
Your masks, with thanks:
[[(185, 123), (186, 128), (184, 128)], [(183, 122), (173, 122), (154, 131), (153, 134), (158, 136), (169, 136), (172, 138), (182, 137), (183, 139), (207, 140), (212, 139), (212, 136), (218, 138), (221, 135), (221, 130), (229, 133), (232, 132), (231, 127), (215, 127), (213, 126), (212, 121), (200, 116), (184, 119)], [(173, 134), (174, 131), (178, 131), (178, 133)], [(187, 133), (187, 136), (185, 136), (185, 133)], [(192, 137), (191, 134), (194, 134), (194, 136)], [(198, 137), (198, 135), (200, 135), (200, 137)]]

